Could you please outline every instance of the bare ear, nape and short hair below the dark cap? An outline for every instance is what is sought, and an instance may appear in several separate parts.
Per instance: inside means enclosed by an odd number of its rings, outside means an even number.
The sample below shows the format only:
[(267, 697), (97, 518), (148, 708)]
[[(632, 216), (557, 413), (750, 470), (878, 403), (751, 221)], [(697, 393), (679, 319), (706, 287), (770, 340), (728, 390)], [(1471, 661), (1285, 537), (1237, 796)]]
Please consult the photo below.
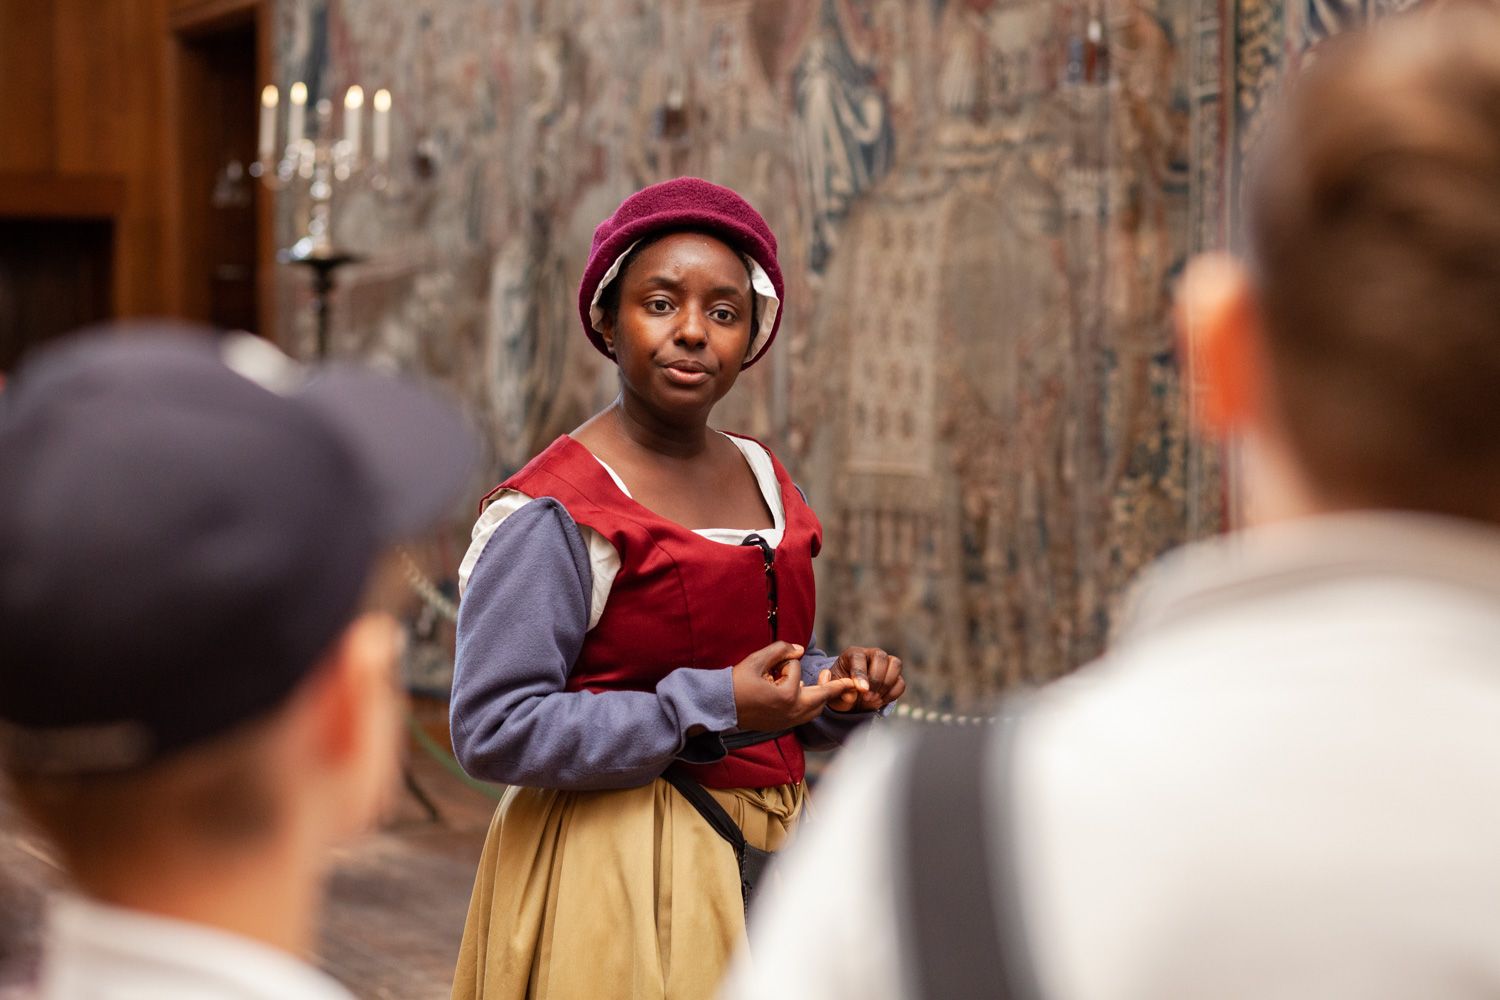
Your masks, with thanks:
[(394, 586), (382, 562), (366, 607), (308, 675), (226, 733), (120, 772), (54, 774), (4, 754), (16, 804), (80, 888), (128, 904), (142, 880), (166, 889), (183, 876), (228, 877), (240, 858), (358, 835), (398, 774), (404, 633), (386, 610)]

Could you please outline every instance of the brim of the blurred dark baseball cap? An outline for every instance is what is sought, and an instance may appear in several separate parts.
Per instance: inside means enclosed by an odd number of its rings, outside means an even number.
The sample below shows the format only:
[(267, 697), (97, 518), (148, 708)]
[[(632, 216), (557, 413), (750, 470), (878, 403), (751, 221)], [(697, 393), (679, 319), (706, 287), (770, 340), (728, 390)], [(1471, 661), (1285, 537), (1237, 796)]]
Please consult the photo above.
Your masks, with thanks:
[(474, 472), (478, 441), (456, 408), (410, 382), (327, 367), (297, 397), (322, 415), (364, 466), (381, 538), (430, 528)]

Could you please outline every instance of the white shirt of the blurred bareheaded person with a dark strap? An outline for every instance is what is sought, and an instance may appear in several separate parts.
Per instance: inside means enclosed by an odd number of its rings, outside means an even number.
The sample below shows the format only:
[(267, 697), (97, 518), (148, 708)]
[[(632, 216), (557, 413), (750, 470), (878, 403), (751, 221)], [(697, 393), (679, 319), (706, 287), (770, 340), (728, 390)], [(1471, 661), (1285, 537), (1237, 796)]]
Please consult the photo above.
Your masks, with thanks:
[[(1022, 726), (1047, 1000), (1500, 996), (1500, 531), (1366, 513), (1190, 549)], [(902, 739), (836, 765), (726, 997), (906, 996)]]

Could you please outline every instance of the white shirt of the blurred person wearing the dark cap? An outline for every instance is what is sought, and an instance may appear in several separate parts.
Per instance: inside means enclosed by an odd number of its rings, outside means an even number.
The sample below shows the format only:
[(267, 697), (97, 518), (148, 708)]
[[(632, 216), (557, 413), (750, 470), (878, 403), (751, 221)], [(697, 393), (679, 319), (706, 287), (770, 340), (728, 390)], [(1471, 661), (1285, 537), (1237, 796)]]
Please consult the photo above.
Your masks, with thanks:
[(52, 903), (39, 1000), (354, 1000), (284, 951), (78, 898)]

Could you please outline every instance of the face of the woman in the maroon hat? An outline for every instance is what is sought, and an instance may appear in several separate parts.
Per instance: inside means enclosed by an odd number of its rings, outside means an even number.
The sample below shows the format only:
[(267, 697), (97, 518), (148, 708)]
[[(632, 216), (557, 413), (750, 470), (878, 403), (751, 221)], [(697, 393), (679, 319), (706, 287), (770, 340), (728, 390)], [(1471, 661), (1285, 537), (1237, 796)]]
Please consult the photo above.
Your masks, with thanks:
[(627, 394), (657, 417), (708, 420), (750, 349), (750, 274), (714, 237), (678, 232), (645, 247), (616, 277), (620, 310), (604, 343)]

